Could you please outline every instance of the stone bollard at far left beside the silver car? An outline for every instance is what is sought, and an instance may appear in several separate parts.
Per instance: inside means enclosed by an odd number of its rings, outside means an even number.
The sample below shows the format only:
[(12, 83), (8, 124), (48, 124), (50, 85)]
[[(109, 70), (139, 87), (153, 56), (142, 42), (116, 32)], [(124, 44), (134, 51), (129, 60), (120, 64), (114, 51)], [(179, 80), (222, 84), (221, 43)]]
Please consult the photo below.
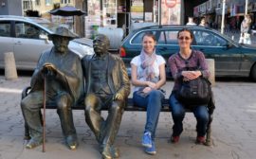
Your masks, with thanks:
[(13, 52), (5, 53), (5, 76), (7, 80), (18, 78)]

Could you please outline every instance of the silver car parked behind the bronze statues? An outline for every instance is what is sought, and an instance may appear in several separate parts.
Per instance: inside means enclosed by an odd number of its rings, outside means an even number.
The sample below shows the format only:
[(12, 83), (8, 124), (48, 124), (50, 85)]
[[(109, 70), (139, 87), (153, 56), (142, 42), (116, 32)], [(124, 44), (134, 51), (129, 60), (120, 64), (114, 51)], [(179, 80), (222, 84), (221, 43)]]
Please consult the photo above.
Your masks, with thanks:
[[(34, 70), (41, 53), (52, 47), (47, 35), (57, 27), (43, 18), (0, 15), (0, 69), (4, 68), (4, 53), (13, 52), (19, 70)], [(92, 40), (71, 41), (68, 47), (81, 58), (94, 54)]]

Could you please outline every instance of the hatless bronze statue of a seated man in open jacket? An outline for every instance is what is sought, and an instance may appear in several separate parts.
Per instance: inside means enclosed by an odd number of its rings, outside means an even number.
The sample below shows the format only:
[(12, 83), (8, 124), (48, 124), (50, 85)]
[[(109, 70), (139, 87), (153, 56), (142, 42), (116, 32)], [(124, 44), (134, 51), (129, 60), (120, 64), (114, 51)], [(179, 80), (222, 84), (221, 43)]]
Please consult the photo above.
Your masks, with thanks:
[[(93, 41), (95, 55), (82, 58), (85, 121), (101, 146), (102, 157), (107, 159), (119, 157), (113, 144), (130, 94), (125, 65), (118, 56), (107, 52), (109, 45), (109, 39), (99, 34)], [(106, 120), (101, 108), (108, 108)]]

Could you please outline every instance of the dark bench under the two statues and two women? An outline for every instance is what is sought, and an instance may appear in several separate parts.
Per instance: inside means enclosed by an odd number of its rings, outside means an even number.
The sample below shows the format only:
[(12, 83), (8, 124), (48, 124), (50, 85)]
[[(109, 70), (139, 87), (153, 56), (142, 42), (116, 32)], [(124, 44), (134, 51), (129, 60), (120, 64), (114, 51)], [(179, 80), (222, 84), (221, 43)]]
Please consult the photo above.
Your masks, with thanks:
[[(30, 87), (26, 87), (23, 92), (22, 92), (22, 98), (27, 96), (27, 93), (29, 92)], [(56, 106), (52, 106), (52, 105), (46, 105), (46, 109), (56, 109)], [(73, 106), (72, 110), (84, 110), (84, 105), (83, 103)], [(102, 111), (107, 111), (107, 109), (102, 109)], [(145, 108), (141, 108), (141, 107), (137, 107), (134, 105), (133, 102), (133, 98), (128, 98), (127, 99), (127, 104), (126, 107), (124, 108), (124, 111), (136, 111), (136, 112), (146, 112)], [(165, 98), (162, 102), (162, 109), (161, 112), (171, 112), (169, 109), (169, 99)], [(192, 113), (192, 110), (187, 109), (186, 113)], [(210, 114), (210, 120), (209, 120), (209, 124), (208, 124), (208, 128), (207, 128), (207, 136), (206, 136), (206, 146), (210, 146), (211, 145), (211, 121), (213, 119), (213, 110), (209, 109), (209, 114)], [(24, 139), (29, 139), (29, 132), (28, 132), (28, 128), (27, 128), (27, 124), (25, 124), (25, 137)]]

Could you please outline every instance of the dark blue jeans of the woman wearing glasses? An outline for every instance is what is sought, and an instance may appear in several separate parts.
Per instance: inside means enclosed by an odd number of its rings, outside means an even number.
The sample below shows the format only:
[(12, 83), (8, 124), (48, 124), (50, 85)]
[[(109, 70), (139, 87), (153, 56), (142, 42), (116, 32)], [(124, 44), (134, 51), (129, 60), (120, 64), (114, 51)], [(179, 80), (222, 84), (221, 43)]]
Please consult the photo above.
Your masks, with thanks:
[[(173, 136), (178, 136), (183, 131), (182, 121), (185, 116), (186, 107), (176, 99), (176, 97), (174, 96), (174, 93), (171, 94), (169, 98), (169, 102), (170, 102), (170, 110), (172, 111), (172, 115), (174, 119)], [(196, 124), (197, 136), (205, 136), (207, 125), (209, 122), (209, 113), (208, 113), (207, 105), (196, 106), (192, 110), (192, 112), (197, 120), (197, 124)]]

